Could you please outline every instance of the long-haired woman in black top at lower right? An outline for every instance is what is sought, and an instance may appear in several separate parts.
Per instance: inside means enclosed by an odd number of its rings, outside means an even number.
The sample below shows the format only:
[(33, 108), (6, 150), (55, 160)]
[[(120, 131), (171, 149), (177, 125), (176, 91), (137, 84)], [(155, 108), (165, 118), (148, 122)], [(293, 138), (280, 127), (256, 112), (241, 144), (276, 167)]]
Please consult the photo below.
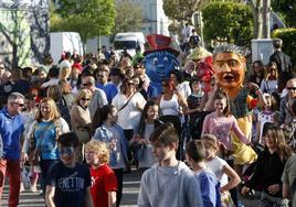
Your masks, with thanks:
[[(267, 123), (266, 123), (267, 124)], [(281, 181), (285, 163), (292, 156), (292, 150), (285, 142), (285, 135), (277, 126), (266, 126), (265, 149), (258, 155), (254, 174), (242, 188), (245, 195), (251, 188), (261, 185), (260, 207), (281, 206), (288, 207), (287, 199), (283, 198)]]

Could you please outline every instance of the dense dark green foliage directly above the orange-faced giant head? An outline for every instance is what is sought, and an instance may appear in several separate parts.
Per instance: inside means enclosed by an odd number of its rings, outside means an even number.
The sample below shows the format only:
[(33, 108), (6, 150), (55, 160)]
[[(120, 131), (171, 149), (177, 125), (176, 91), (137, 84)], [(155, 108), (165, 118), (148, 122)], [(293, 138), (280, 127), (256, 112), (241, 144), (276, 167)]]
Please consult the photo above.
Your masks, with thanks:
[(250, 45), (253, 34), (251, 8), (235, 2), (212, 2), (203, 10), (205, 41)]

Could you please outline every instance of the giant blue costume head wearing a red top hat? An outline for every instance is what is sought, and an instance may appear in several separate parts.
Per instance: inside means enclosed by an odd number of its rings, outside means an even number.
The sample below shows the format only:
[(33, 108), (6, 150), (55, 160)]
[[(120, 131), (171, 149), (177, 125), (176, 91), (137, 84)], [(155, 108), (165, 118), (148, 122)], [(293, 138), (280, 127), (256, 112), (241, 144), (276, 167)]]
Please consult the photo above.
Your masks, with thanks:
[(145, 51), (145, 69), (150, 85), (161, 92), (161, 80), (169, 78), (169, 73), (179, 67), (179, 52), (170, 47), (171, 37), (159, 34), (147, 36), (149, 50)]

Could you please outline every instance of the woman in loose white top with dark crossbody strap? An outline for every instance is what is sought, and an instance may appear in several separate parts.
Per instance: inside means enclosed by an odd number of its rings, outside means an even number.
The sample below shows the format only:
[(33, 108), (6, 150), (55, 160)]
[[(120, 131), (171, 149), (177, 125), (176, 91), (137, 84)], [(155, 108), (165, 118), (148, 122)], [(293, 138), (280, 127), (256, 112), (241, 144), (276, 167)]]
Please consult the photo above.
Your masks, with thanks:
[[(112, 105), (118, 110), (117, 123), (124, 129), (125, 138), (129, 141), (134, 137), (134, 131), (146, 105), (145, 98), (140, 92), (137, 92), (133, 79), (124, 79), (120, 92), (114, 97)], [(130, 151), (128, 152), (128, 156), (130, 161)]]

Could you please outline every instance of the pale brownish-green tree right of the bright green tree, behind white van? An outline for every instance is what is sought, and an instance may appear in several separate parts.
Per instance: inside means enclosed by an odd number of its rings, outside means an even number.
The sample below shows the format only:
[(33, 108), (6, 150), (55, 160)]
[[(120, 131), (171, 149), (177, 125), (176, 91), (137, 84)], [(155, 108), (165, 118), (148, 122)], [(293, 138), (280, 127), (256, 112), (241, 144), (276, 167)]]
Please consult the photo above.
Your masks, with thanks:
[(116, 4), (114, 33), (139, 31), (144, 26), (142, 9), (130, 0)]

